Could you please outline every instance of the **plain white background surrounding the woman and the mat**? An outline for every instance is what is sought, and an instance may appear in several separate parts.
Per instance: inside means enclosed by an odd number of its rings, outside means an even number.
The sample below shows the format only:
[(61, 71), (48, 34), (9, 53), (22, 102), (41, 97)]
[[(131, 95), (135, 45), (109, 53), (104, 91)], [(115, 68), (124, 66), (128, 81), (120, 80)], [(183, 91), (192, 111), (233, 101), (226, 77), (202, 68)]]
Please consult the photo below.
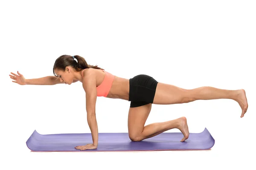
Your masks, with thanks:
[[(253, 0), (1, 1), (0, 169), (253, 169), (255, 9)], [(186, 89), (243, 88), (248, 111), (240, 118), (239, 104), (228, 99), (152, 106), (146, 124), (186, 116), (190, 133), (207, 127), (215, 138), (208, 151), (34, 153), (26, 146), (34, 130), (90, 133), (80, 82), (20, 86), (9, 78), (53, 75), (64, 54), (127, 79), (147, 74)], [(128, 132), (129, 105), (97, 98), (99, 133)]]

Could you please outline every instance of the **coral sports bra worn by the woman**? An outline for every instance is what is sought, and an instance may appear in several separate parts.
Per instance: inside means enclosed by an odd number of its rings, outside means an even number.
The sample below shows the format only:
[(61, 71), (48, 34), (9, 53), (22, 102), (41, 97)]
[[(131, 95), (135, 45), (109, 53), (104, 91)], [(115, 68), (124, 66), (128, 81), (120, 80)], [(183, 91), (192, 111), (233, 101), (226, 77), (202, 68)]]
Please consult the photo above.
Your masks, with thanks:
[[(97, 86), (97, 96), (107, 97), (115, 76), (109, 72), (106, 72), (105, 70), (102, 70), (102, 71), (105, 72), (105, 78), (102, 81), (102, 83), (99, 86)], [(82, 71), (82, 77), (84, 78), (83, 72), (84, 72), (84, 69)]]

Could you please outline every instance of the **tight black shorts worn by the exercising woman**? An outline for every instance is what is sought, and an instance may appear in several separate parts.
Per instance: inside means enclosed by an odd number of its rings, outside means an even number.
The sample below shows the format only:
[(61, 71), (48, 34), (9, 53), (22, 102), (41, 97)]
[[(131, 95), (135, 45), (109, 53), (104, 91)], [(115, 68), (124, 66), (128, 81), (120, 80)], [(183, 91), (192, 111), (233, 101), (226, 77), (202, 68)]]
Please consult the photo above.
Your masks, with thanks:
[(130, 107), (139, 107), (153, 103), (157, 81), (148, 75), (136, 75), (130, 78), (129, 101)]

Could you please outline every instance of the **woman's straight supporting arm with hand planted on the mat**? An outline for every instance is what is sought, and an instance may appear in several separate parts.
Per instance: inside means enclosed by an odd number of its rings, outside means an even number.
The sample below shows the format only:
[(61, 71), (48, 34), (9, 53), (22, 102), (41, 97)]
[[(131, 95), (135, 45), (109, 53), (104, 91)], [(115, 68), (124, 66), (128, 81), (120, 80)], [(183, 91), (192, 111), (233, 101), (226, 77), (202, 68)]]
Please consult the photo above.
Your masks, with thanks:
[(75, 147), (80, 150), (96, 149), (98, 147), (98, 125), (95, 111), (97, 99), (96, 76), (92, 71), (93, 70), (87, 71), (87, 75), (84, 77), (84, 81), (82, 83), (86, 94), (87, 122), (92, 133), (93, 144)]

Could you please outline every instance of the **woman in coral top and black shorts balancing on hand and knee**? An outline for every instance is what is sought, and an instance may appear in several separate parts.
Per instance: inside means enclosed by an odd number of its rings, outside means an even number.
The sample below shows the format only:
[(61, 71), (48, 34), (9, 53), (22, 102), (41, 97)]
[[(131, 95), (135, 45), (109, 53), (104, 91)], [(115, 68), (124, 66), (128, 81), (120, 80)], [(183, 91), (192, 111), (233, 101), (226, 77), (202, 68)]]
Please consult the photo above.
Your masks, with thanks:
[(98, 146), (98, 127), (95, 105), (97, 96), (119, 98), (131, 101), (128, 113), (128, 134), (131, 141), (142, 141), (167, 130), (177, 128), (185, 141), (189, 137), (186, 118), (148, 124), (145, 121), (151, 111), (152, 104), (181, 104), (196, 100), (233, 99), (242, 109), (241, 118), (247, 112), (248, 104), (244, 89), (226, 90), (204, 86), (195, 89), (182, 89), (170, 84), (157, 82), (148, 75), (137, 75), (125, 79), (112, 75), (98, 66), (88, 65), (79, 55), (62, 55), (53, 66), (54, 76), (36, 79), (25, 79), (22, 74), (11, 72), (9, 75), (14, 83), (25, 85), (54, 85), (82, 82), (86, 93), (87, 121), (92, 133), (93, 144), (75, 147), (78, 150), (96, 149)]

